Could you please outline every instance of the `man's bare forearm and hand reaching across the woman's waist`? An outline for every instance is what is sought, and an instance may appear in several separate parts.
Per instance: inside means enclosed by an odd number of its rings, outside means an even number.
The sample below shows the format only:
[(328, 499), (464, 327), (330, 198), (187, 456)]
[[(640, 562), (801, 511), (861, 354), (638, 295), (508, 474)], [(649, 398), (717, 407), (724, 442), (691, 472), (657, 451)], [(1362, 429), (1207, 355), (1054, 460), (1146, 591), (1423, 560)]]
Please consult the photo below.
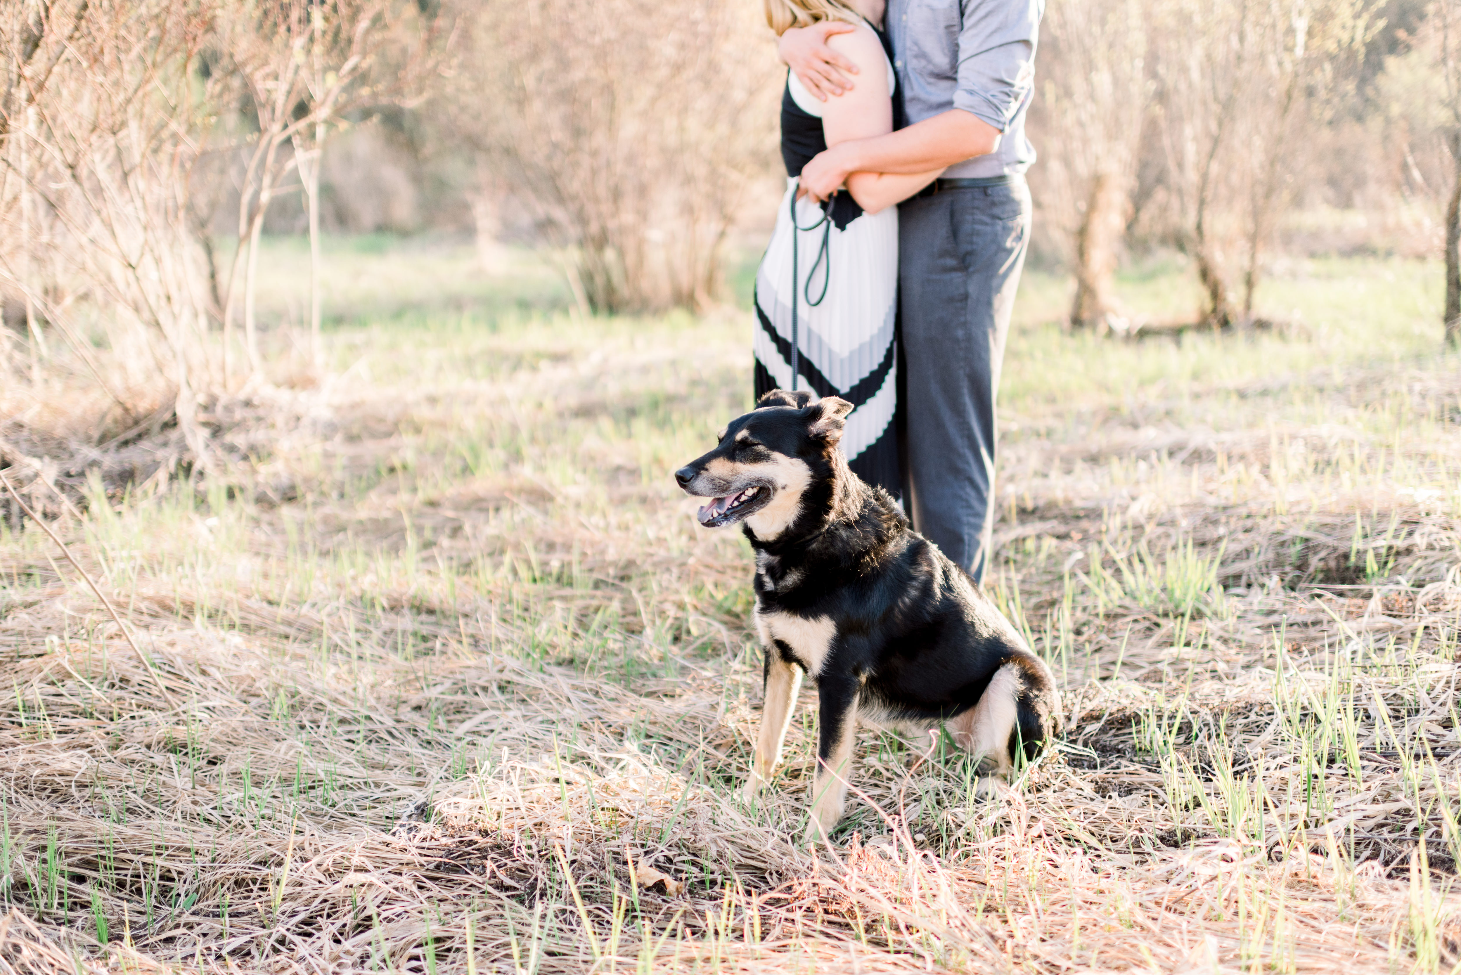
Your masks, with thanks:
[(817, 155), (802, 170), (805, 196), (825, 200), (853, 172), (915, 174), (944, 167), (999, 148), (999, 130), (988, 121), (951, 108), (941, 115), (871, 139), (852, 139)]

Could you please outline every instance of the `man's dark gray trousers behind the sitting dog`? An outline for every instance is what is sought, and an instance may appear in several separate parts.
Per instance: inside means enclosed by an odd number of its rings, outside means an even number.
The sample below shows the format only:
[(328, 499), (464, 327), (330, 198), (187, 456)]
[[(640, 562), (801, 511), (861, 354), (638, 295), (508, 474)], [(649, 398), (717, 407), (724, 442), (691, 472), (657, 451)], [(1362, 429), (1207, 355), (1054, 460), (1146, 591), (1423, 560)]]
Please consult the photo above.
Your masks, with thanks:
[(904, 500), (974, 582), (991, 558), (995, 396), (1030, 218), (1021, 177), (899, 206)]

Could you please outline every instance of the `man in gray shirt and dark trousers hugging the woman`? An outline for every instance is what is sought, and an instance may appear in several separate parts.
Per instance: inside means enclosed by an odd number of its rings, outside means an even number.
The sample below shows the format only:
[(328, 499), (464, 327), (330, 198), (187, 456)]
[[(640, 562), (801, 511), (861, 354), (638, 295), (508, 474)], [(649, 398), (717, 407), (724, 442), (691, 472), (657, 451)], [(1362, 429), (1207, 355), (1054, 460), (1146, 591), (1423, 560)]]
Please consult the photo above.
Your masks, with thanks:
[[(890, 0), (887, 29), (904, 127), (842, 142), (804, 170), (823, 200), (850, 172), (944, 175), (899, 206), (899, 291), (913, 526), (982, 582), (992, 544), (995, 395), (1030, 237), (1024, 115), (1045, 0)], [(856, 69), (827, 47), (853, 29), (824, 20), (779, 53), (818, 98)]]

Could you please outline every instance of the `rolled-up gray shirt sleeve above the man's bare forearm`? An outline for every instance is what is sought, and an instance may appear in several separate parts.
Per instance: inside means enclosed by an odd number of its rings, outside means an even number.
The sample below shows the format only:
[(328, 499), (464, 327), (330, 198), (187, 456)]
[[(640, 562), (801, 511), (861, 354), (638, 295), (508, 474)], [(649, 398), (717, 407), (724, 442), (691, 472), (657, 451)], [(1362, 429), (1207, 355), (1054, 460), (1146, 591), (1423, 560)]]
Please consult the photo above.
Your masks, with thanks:
[(1045, 0), (963, 0), (954, 108), (1010, 127), (1034, 85), (1043, 9)]

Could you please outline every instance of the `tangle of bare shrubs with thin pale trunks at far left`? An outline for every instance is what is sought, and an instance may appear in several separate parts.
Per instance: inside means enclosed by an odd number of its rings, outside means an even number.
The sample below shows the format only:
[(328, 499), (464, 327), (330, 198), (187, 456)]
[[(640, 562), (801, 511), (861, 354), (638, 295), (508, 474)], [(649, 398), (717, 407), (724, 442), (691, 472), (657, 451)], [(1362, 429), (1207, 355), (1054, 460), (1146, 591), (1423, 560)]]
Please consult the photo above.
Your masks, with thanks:
[[(0, 468), (53, 482), (28, 443), (86, 468), (137, 437), (155, 441), (131, 465), (139, 479), (216, 466), (216, 422), (200, 409), (212, 417), (235, 392), (238, 304), (260, 377), (253, 294), (269, 200), (302, 162), (297, 189), (317, 203), (320, 139), (345, 110), (403, 99), (431, 23), (386, 0), (0, 0)], [(241, 246), (221, 288), (205, 215), (228, 167), (200, 161), (238, 143)]]

